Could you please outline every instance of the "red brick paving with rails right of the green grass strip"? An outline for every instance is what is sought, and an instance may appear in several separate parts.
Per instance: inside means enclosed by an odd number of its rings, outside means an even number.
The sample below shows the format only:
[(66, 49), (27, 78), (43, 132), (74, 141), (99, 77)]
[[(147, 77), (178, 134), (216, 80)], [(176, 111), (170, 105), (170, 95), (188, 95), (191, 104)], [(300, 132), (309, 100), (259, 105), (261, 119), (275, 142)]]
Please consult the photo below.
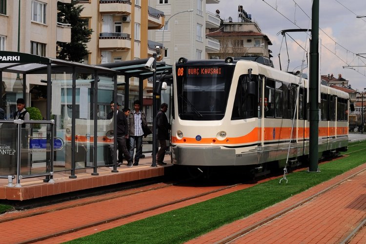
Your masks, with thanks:
[[(366, 163), (261, 212), (226, 224), (188, 243), (219, 242), (225, 237), (298, 203), (363, 169), (366, 169)], [(339, 243), (365, 218), (366, 171), (268, 224), (252, 230), (233, 243)], [(362, 230), (351, 243), (365, 244), (366, 231)]]

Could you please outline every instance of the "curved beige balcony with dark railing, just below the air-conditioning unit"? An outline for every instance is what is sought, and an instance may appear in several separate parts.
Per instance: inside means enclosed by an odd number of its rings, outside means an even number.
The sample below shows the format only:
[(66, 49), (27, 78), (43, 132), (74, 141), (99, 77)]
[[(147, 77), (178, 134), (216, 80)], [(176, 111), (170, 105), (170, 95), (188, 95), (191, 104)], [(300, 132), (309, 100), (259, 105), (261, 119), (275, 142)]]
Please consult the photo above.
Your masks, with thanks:
[(130, 50), (130, 34), (118, 32), (102, 32), (99, 34), (99, 48), (104, 50)]

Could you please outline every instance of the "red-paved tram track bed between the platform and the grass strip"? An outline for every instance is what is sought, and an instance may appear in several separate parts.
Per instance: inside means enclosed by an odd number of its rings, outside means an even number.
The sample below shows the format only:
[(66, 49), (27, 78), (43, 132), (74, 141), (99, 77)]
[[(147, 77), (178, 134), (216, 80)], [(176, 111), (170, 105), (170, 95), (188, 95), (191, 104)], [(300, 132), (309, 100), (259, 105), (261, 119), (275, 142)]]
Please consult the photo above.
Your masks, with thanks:
[[(86, 199), (79, 199), (72, 201), (72, 203), (58, 203), (55, 204), (52, 207), (39, 207), (36, 209), (29, 209), (26, 211), (21, 211), (20, 213), (10, 213), (12, 216), (9, 217), (2, 217), (0, 219), (0, 228), (5, 230), (9, 230), (9, 233), (4, 233), (2, 231), (2, 236), (11, 235), (12, 230), (11, 227), (13, 224), (17, 224), (19, 221), (30, 221), (32, 223), (38, 223), (43, 224), (45, 226), (49, 227), (50, 231), (45, 231), (42, 229), (39, 235), (35, 238), (19, 238), (13, 239), (16, 243), (35, 243), (47, 240), (49, 238), (59, 237), (68, 233), (80, 231), (83, 229), (87, 229), (93, 226), (98, 226), (105, 223), (110, 223), (114, 221), (118, 221), (125, 218), (130, 218), (137, 216), (139, 214), (153, 211), (153, 210), (159, 210), (163, 209), (169, 206), (172, 206), (177, 203), (187, 203), (187, 202), (195, 202), (195, 200), (202, 198), (204, 196), (208, 196), (210, 194), (220, 194), (220, 192), (224, 192), (225, 190), (230, 190), (230, 188), (234, 188), (236, 186), (240, 186), (242, 183), (232, 184), (232, 185), (226, 185), (226, 186), (211, 186), (211, 187), (203, 187), (199, 189), (198, 187), (189, 186), (189, 185), (178, 185), (177, 183), (157, 183), (151, 186), (145, 186), (141, 189), (132, 189), (123, 191), (120, 193), (113, 193), (113, 194), (107, 194), (107, 196), (96, 196), (92, 198), (86, 198)], [(186, 194), (177, 194), (177, 187), (180, 189), (186, 190)], [(207, 189), (204, 189), (207, 188)], [(190, 193), (188, 193), (190, 191)], [(175, 193), (174, 193), (175, 192)], [(170, 195), (171, 197), (169, 199), (164, 199), (160, 196), (166, 196)], [(179, 196), (181, 195), (181, 196)], [(103, 208), (103, 206), (108, 204), (130, 204), (134, 201), (142, 201), (146, 199), (150, 199), (152, 196), (155, 196), (156, 199), (160, 199), (160, 201), (155, 201), (152, 204), (146, 204), (146, 206), (140, 206), (136, 207), (136, 209), (130, 208), (126, 209), (125, 211), (116, 211), (115, 213), (102, 216), (103, 211), (100, 212), (97, 209)], [(131, 201), (132, 199), (132, 201)], [(113, 202), (113, 203), (112, 203)], [(130, 203), (128, 203), (130, 202)], [(192, 203), (187, 203), (192, 204)], [(85, 212), (83, 218), (86, 219), (83, 223), (76, 223), (76, 224), (70, 224), (68, 228), (62, 228), (60, 227), (57, 231), (51, 231), (51, 225), (52, 223), (45, 223), (49, 221), (49, 219), (52, 219), (55, 214), (58, 214), (62, 212), (62, 215), (64, 216), (72, 216), (76, 212), (85, 211), (84, 209), (95, 209), (96, 212), (98, 211), (100, 214), (99, 218), (91, 218), (91, 215), (93, 215), (91, 212)], [(87, 211), (87, 210), (86, 210)], [(105, 212), (111, 213), (111, 211), (108, 211), (105, 209)], [(96, 214), (97, 215), (97, 214)], [(81, 217), (82, 218), (82, 217)], [(70, 221), (65, 221), (70, 222)], [(62, 223), (55, 223), (56, 225), (62, 226)], [(5, 228), (6, 226), (6, 228)], [(10, 227), (10, 228), (9, 228)], [(32, 226), (27, 226), (27, 228), (24, 229), (24, 231), (32, 231)], [(39, 227), (41, 229), (41, 226)], [(47, 230), (47, 227), (45, 227), (45, 230)], [(18, 233), (23, 233), (22, 230), (19, 230)]]

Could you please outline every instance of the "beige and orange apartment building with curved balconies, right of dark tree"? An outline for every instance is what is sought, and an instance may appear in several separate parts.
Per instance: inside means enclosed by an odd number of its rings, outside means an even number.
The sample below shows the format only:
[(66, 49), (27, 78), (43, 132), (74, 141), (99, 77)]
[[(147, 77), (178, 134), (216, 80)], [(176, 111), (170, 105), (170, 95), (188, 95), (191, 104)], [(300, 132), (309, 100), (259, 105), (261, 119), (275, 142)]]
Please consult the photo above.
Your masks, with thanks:
[(93, 30), (84, 62), (101, 64), (145, 59), (155, 51), (148, 30), (160, 29), (164, 13), (146, 0), (79, 0), (81, 17)]

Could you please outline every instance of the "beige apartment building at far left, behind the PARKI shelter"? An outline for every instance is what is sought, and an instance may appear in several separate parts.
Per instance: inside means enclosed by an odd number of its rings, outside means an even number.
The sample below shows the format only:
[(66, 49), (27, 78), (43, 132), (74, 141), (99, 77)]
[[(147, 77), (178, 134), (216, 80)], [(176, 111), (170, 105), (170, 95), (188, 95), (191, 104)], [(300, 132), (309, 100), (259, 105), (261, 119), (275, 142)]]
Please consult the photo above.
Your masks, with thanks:
[[(0, 51), (30, 53), (56, 58), (56, 42), (71, 41), (71, 26), (57, 22), (57, 3), (71, 0), (0, 0)], [(45, 87), (42, 76), (26, 79), (26, 105), (40, 108), (45, 116), (45, 99), (32, 92)], [(23, 98), (22, 75), (3, 74), (0, 107), (9, 115)], [(45, 90), (45, 89), (44, 89)]]

